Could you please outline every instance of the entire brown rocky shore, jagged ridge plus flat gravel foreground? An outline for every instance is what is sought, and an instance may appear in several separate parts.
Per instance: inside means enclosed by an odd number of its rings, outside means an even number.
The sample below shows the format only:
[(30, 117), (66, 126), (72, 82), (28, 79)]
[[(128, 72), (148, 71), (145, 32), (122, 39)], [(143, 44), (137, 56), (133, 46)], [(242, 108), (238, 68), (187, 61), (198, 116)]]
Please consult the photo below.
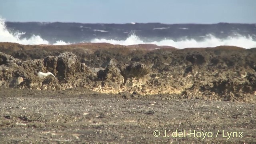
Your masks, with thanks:
[(253, 144), (255, 102), (256, 48), (0, 43), (4, 144)]

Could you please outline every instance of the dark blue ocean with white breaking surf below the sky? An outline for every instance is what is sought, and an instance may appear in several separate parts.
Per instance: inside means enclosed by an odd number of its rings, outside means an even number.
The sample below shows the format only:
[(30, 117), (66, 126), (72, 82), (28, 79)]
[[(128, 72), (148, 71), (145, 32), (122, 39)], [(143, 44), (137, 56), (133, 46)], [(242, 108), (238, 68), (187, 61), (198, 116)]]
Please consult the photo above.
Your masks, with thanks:
[(65, 45), (107, 42), (156, 44), (175, 48), (220, 45), (256, 47), (256, 24), (83, 24), (67, 22), (6, 22), (0, 18), (0, 42)]

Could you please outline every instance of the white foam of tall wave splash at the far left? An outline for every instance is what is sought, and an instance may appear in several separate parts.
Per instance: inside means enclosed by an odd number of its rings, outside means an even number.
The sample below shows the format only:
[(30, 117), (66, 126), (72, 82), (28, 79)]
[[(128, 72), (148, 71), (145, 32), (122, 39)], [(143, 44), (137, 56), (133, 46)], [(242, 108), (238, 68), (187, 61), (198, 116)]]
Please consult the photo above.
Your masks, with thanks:
[[(20, 38), (25, 32), (10, 32), (7, 30), (4, 18), (0, 17), (0, 42), (15, 42), (19, 44), (50, 44), (40, 36), (32, 35), (30, 38)], [(62, 44), (69, 44), (61, 42)], [(55, 44), (60, 44), (60, 41)]]

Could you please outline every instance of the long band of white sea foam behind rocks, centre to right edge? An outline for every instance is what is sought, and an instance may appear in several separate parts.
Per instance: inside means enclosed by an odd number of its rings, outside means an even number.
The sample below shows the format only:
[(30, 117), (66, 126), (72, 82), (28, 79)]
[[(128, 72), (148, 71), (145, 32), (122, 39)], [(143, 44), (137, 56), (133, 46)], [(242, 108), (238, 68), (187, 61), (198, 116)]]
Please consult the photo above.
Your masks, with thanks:
[(91, 42), (97, 43), (97, 42), (107, 42), (110, 44), (121, 44), (121, 45), (133, 45), (133, 44), (156, 44), (158, 46), (174, 46), (176, 48), (197, 48), (197, 47), (216, 47), (216, 46), (222, 46), (222, 45), (228, 45), (228, 46), (239, 46), (242, 48), (255, 48), (256, 47), (256, 41), (252, 39), (251, 36), (246, 38), (245, 36), (239, 36), (239, 37), (228, 37), (224, 40), (220, 38), (216, 38), (212, 35), (204, 36), (203, 41), (196, 41), (194, 39), (184, 39), (180, 41), (174, 41), (171, 39), (165, 39), (160, 41), (154, 41), (154, 42), (143, 42), (138, 36), (135, 34), (132, 34), (126, 40), (107, 40), (107, 39), (93, 39)]

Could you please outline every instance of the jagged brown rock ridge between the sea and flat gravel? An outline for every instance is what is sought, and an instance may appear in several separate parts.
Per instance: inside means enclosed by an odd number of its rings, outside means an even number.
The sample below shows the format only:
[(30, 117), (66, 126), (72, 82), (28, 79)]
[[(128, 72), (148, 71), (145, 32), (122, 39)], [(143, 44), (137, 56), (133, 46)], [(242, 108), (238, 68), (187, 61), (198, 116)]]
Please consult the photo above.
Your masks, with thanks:
[[(155, 50), (154, 50), (155, 49)], [(0, 86), (255, 102), (256, 49), (0, 44)], [(36, 72), (58, 79), (40, 79)]]

